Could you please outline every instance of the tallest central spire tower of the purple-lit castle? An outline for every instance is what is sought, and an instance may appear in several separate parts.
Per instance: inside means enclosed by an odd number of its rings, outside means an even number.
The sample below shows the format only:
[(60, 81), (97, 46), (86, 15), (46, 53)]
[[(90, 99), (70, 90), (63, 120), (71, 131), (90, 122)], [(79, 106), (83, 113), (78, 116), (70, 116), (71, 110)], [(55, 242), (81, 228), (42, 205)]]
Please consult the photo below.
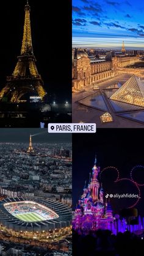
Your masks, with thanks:
[(92, 181), (90, 183), (90, 187), (92, 189), (92, 199), (93, 202), (98, 201), (98, 189), (99, 189), (99, 181), (98, 181), (98, 173), (99, 173), (99, 167), (96, 166), (96, 157), (95, 157), (95, 163), (93, 166), (93, 174), (92, 174)]

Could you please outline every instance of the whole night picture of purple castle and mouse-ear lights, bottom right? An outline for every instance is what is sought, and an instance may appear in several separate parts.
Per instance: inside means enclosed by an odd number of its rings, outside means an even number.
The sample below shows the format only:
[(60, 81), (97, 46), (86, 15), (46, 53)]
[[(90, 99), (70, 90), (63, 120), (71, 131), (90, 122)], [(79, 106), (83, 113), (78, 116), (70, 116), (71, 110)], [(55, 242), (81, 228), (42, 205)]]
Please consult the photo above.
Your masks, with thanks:
[(73, 255), (143, 254), (144, 161), (137, 141), (142, 134), (142, 129), (75, 134)]

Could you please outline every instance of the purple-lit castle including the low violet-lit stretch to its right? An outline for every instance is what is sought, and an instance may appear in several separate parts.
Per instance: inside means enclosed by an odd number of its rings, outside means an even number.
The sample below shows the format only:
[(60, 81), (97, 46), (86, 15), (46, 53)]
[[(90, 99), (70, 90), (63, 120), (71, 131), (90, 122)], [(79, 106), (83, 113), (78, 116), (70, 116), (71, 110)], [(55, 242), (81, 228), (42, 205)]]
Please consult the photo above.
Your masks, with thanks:
[[(107, 202), (107, 199), (104, 200), (103, 186), (98, 181), (99, 173), (100, 167), (96, 166), (95, 158), (95, 164), (92, 168), (92, 178), (90, 174), (88, 186), (86, 186), (85, 182), (83, 194), (73, 213), (73, 230), (76, 230), (79, 234), (82, 232), (85, 234), (98, 229), (111, 230), (115, 235), (118, 232), (123, 233), (126, 230), (142, 233), (144, 218), (139, 216), (139, 219), (135, 219), (135, 217), (138, 217), (137, 209), (124, 209), (124, 211), (130, 210), (129, 216), (131, 218), (129, 217), (129, 221), (128, 218), (126, 219), (123, 216), (120, 218), (119, 214), (113, 216), (110, 202)], [(133, 222), (134, 220), (135, 224)]]

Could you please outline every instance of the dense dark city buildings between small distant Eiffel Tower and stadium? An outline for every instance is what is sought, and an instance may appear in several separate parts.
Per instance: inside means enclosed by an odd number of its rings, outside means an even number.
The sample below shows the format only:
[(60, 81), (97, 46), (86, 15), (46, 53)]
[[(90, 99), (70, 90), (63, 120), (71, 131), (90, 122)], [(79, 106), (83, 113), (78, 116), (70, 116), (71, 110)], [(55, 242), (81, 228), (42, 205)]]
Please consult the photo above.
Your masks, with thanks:
[[(55, 195), (60, 198), (71, 191), (71, 149), (62, 144), (33, 144), (34, 152), (27, 153), (28, 144), (1, 143), (1, 194), (9, 197)], [(61, 148), (67, 157), (61, 155)], [(25, 148), (25, 149), (24, 149)], [(56, 155), (55, 151), (59, 150)], [(63, 153), (62, 153), (63, 154)], [(11, 192), (9, 192), (11, 191)], [(31, 195), (32, 191), (32, 195)], [(56, 194), (55, 194), (56, 193)], [(57, 194), (58, 193), (58, 194)], [(71, 204), (71, 203), (69, 203)]]

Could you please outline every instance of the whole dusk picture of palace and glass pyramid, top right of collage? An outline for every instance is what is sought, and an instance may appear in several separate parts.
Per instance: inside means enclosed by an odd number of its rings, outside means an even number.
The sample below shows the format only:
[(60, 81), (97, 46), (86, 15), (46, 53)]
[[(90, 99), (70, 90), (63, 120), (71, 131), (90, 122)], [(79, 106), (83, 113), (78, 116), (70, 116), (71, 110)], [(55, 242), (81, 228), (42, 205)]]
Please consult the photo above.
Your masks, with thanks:
[(143, 7), (73, 0), (73, 122), (144, 126)]

